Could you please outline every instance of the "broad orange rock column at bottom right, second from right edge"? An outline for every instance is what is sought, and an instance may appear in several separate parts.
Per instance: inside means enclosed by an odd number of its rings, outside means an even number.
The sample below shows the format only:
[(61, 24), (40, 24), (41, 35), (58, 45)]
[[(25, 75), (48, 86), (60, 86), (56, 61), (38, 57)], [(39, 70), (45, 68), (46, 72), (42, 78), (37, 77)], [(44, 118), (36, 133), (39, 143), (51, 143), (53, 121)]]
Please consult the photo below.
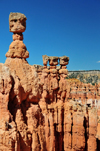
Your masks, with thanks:
[(72, 151), (85, 150), (84, 113), (81, 106), (73, 106)]

